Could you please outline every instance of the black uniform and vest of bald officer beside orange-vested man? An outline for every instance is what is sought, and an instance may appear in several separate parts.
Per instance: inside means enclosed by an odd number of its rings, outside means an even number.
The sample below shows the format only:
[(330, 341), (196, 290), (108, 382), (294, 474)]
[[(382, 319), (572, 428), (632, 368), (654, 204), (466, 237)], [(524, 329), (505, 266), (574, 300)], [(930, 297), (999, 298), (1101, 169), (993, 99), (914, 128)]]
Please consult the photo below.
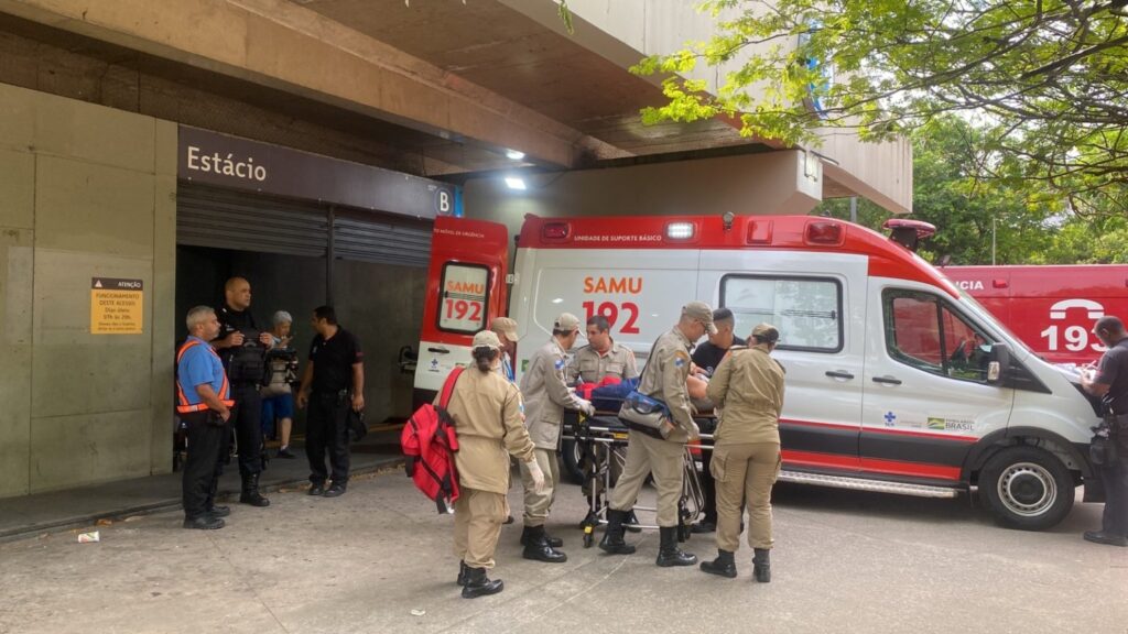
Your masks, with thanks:
[[(236, 440), (239, 443), (239, 475), (243, 477), (243, 494), (239, 501), (255, 507), (266, 507), (270, 501), (258, 494), (258, 476), (263, 472), (263, 402), (258, 388), (266, 372), (266, 347), (258, 342), (262, 331), (258, 329), (250, 310), (233, 310), (224, 305), (215, 316), (220, 325), (218, 340), (236, 332), (243, 333), (244, 336), (241, 346), (227, 347), (219, 352), (231, 381), (231, 399), (235, 400), (228, 424), (235, 429)], [(229, 434), (224, 434), (224, 444), (228, 442), (228, 437)], [(228, 452), (227, 449), (228, 447), (224, 447), (224, 455)], [(222, 470), (221, 467), (217, 469)]]

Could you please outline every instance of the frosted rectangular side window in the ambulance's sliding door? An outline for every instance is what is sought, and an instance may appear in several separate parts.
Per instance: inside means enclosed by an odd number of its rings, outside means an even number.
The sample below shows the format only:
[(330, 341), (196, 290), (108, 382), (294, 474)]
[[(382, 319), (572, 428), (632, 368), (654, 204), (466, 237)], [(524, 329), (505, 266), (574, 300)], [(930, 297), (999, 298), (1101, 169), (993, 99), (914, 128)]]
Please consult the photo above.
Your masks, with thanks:
[(843, 289), (837, 280), (725, 275), (721, 306), (732, 310), (741, 338), (767, 322), (779, 328), (781, 350), (832, 353), (843, 349)]

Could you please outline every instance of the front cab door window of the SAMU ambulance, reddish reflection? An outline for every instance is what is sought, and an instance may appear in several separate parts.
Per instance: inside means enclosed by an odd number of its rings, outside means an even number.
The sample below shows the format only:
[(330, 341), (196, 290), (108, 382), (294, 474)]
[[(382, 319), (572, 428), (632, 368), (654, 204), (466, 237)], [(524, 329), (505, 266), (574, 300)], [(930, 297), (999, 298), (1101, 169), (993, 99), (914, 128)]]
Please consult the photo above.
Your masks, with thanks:
[(938, 297), (887, 290), (882, 305), (885, 350), (893, 360), (943, 377), (987, 380), (986, 337)]

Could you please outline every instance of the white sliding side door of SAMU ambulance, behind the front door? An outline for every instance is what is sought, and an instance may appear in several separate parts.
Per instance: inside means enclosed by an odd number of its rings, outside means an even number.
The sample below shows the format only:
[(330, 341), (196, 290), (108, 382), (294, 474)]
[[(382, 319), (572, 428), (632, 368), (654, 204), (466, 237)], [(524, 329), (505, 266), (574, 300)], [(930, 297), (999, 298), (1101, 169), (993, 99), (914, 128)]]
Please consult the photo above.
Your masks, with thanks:
[(715, 289), (715, 305), (733, 311), (740, 337), (761, 322), (779, 329), (773, 356), (786, 371), (779, 419), (785, 467), (856, 472), (865, 259), (778, 250), (703, 252), (702, 261), (700, 287)]

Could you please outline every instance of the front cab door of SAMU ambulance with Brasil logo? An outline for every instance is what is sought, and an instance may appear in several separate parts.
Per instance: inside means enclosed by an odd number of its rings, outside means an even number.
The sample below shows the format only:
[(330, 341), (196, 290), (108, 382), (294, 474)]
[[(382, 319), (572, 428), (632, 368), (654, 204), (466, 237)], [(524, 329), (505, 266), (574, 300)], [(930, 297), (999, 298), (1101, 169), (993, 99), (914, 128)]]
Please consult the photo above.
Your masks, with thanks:
[(992, 337), (935, 287), (870, 282), (861, 467), (957, 483), (968, 451), (1006, 426), (1014, 390), (987, 382)]

